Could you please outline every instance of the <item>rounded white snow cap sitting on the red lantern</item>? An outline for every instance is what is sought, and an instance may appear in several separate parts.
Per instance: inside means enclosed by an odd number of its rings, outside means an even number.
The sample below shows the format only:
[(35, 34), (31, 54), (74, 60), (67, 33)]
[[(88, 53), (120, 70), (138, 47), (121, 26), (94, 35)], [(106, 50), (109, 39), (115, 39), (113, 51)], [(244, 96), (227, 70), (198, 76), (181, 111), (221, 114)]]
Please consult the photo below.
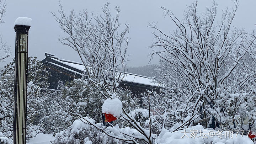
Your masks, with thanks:
[(106, 114), (112, 114), (118, 118), (122, 112), (123, 104), (118, 98), (108, 98), (102, 105), (101, 112)]

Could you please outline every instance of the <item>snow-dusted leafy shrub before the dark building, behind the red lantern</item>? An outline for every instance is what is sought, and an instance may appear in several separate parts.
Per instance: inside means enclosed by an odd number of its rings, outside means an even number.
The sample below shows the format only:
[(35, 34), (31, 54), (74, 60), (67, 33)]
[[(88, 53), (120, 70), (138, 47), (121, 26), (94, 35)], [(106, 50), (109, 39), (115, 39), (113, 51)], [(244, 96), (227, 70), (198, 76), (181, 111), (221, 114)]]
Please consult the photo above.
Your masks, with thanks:
[[(77, 117), (68, 112), (70, 108), (81, 116), (90, 116), (96, 122), (102, 122), (101, 107), (105, 97), (94, 84), (87, 80), (74, 79), (66, 84), (59, 82), (59, 88), (60, 91), (47, 96), (46, 105), (49, 107), (44, 123), (46, 133), (55, 134), (71, 126)], [(134, 110), (138, 106), (137, 98), (132, 98), (128, 90), (117, 89), (117, 94), (125, 109)], [(114, 124), (122, 125), (122, 122), (117, 120)]]

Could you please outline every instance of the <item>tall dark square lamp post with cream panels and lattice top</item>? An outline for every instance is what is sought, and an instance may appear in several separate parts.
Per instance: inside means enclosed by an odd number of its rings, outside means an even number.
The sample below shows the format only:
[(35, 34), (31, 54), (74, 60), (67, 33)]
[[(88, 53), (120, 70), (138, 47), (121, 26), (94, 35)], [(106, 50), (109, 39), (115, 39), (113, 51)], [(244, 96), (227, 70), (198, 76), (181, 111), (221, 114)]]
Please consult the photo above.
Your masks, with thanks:
[[(18, 20), (18, 18), (17, 18)], [(16, 21), (17, 21), (16, 20)], [(31, 20), (31, 19), (30, 19)], [(15, 22), (16, 22), (15, 21)], [(13, 144), (26, 144), (28, 30), (30, 26), (17, 25), (15, 40), (15, 92)]]

